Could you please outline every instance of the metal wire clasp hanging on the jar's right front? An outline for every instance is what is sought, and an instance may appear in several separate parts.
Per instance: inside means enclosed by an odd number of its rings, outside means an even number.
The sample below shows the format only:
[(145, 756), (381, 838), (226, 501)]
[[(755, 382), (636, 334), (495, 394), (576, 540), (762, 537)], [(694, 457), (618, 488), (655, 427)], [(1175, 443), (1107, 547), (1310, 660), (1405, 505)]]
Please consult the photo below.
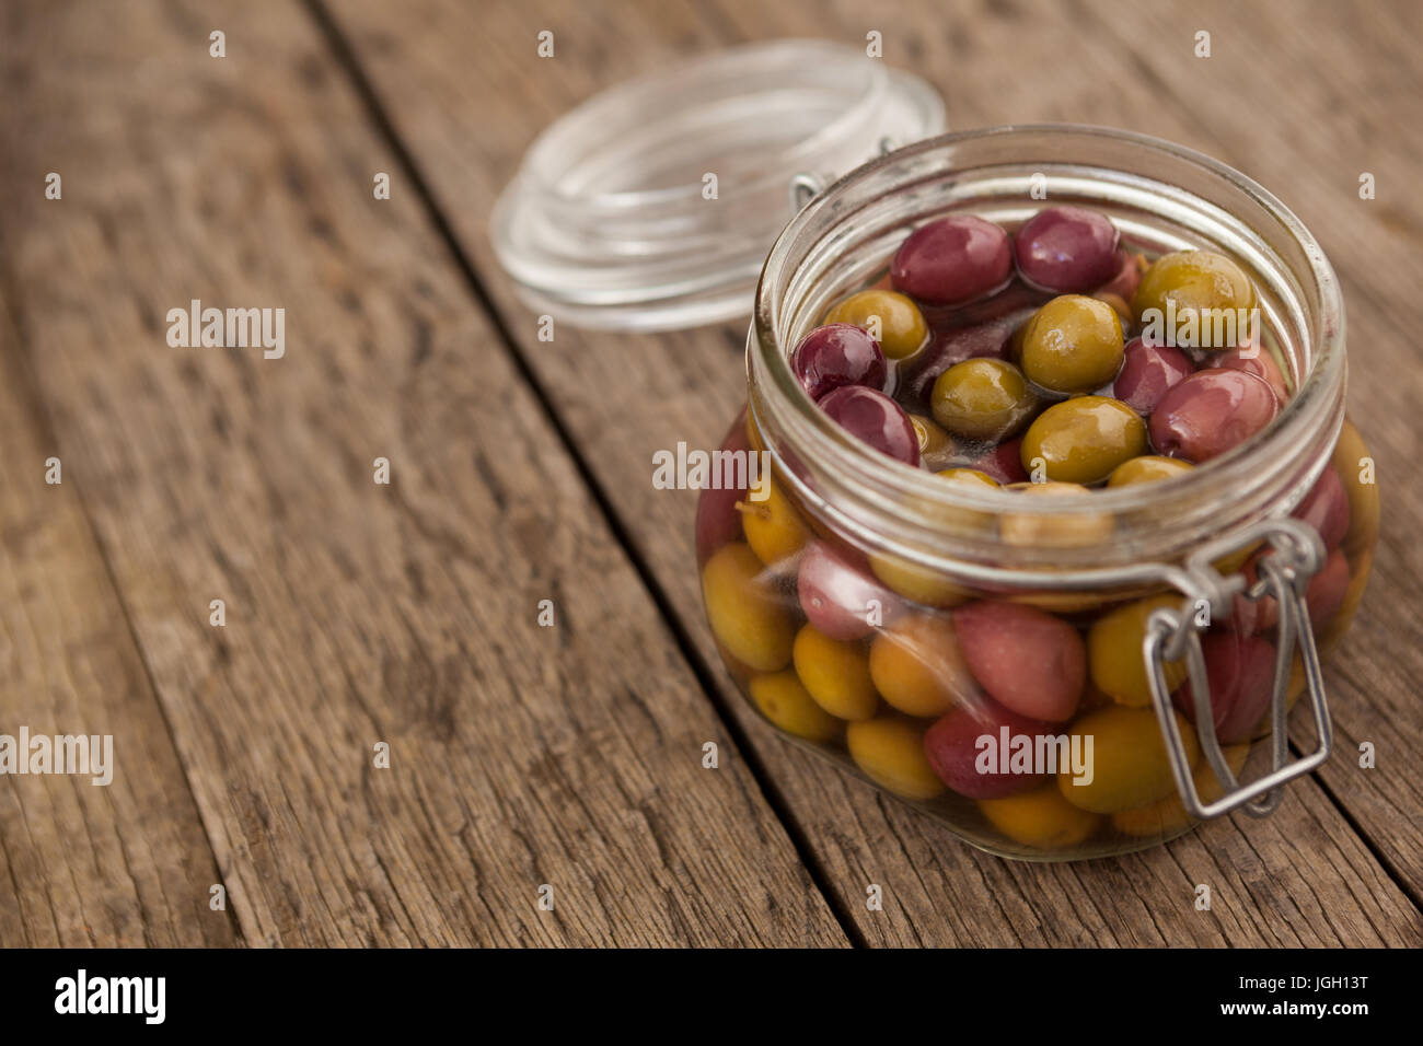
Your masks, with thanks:
[[(1247, 581), (1244, 574), (1222, 575), (1215, 569), (1214, 564), (1222, 556), (1262, 542), (1268, 542), (1274, 551), (1258, 559), (1259, 579), (1254, 585)], [(1254, 817), (1265, 817), (1279, 805), (1282, 784), (1313, 771), (1329, 759), (1333, 749), (1333, 727), (1329, 722), (1323, 673), (1319, 669), (1319, 650), (1315, 646), (1315, 633), (1305, 605), (1305, 589), (1323, 561), (1323, 542), (1308, 524), (1299, 519), (1264, 519), (1197, 549), (1187, 559), (1185, 569), (1173, 576), (1173, 583), (1187, 596), (1181, 609), (1163, 608), (1147, 619), (1147, 633), (1141, 643), (1141, 652), (1151, 685), (1151, 704), (1155, 707), (1161, 734), (1165, 737), (1171, 776), (1175, 778), (1185, 811), (1191, 817), (1204, 821), (1237, 807), (1245, 807), (1245, 811)], [(1252, 602), (1271, 595), (1279, 605), (1279, 625), (1275, 638), (1275, 689), (1271, 696), (1274, 768), (1248, 784), (1235, 780), (1235, 774), (1225, 763), (1220, 740), (1215, 737), (1205, 656), (1201, 652), (1201, 632), (1208, 628), (1208, 622), (1201, 623), (1202, 603), (1210, 608), (1208, 619), (1214, 620), (1231, 612), (1231, 603), (1237, 595), (1244, 595)], [(1285, 716), (1296, 638), (1305, 669), (1305, 692), (1315, 717), (1319, 746), (1311, 754), (1288, 761), (1289, 739)], [(1181, 743), (1181, 730), (1171, 707), (1171, 692), (1165, 682), (1165, 662), (1183, 657), (1191, 680), (1195, 731), (1201, 741), (1201, 751), (1222, 787), (1221, 798), (1210, 804), (1202, 803), (1195, 790), (1191, 761)]]

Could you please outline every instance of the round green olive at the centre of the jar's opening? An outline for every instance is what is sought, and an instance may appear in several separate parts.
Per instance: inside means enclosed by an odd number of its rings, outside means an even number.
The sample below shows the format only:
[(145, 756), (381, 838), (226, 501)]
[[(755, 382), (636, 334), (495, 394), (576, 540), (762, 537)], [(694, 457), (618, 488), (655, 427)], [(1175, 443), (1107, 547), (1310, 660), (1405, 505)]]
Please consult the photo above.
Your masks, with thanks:
[(1023, 332), (1023, 373), (1054, 393), (1090, 393), (1117, 376), (1126, 350), (1121, 317), (1106, 302), (1054, 297)]

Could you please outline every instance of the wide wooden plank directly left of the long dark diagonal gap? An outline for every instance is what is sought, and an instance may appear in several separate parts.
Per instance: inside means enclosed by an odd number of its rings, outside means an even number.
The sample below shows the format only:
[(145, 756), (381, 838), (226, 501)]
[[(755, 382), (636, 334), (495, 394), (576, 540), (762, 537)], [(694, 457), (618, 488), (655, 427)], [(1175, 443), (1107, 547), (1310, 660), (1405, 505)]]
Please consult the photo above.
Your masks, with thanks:
[(11, 20), (65, 181), (0, 270), (246, 941), (844, 944), (307, 14)]

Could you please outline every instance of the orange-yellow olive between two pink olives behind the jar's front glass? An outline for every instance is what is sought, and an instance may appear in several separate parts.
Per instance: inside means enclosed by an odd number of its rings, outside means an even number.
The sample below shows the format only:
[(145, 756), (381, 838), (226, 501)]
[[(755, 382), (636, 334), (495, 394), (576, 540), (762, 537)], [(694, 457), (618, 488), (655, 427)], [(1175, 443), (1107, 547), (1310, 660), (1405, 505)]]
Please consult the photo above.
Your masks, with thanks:
[(911, 716), (942, 716), (978, 692), (948, 615), (901, 618), (869, 645), (879, 696)]

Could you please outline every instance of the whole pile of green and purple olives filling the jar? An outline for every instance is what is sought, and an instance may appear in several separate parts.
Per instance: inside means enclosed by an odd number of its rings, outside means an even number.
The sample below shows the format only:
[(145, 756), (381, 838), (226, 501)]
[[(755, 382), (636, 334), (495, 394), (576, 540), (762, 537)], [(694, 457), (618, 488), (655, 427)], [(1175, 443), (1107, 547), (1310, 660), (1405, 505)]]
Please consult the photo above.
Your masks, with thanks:
[[(1231, 259), (1148, 260), (1083, 208), (1044, 208), (1012, 235), (956, 215), (915, 229), (881, 280), (795, 344), (790, 366), (837, 424), (945, 484), (1053, 497), (1170, 482), (1255, 437), (1291, 396), (1268, 336), (1242, 324), (1220, 337), (1205, 322), (1255, 306)], [(1160, 316), (1191, 327), (1194, 343), (1171, 344), (1153, 326)], [(761, 445), (743, 418), (723, 450)], [(1345, 423), (1333, 464), (1295, 512), (1329, 554), (1306, 596), (1325, 643), (1348, 626), (1372, 562), (1366, 454)], [(1106, 514), (1053, 529), (1029, 514), (995, 524), (1010, 544), (1111, 532)], [(1005, 854), (1076, 857), (1190, 825), (1141, 655), (1151, 612), (1178, 595), (973, 591), (837, 535), (784, 477), (761, 502), (706, 491), (697, 555), (712, 632), (756, 707), (959, 834)], [(1259, 555), (1229, 568), (1254, 578)], [(1238, 599), (1202, 640), (1215, 731), (1235, 770), (1269, 729), (1276, 620), (1269, 599)], [(1220, 784), (1197, 750), (1185, 675), (1181, 663), (1165, 669), (1210, 801)], [(1301, 689), (1296, 662), (1292, 699)], [(985, 763), (986, 737), (1090, 740), (1090, 780)]]

